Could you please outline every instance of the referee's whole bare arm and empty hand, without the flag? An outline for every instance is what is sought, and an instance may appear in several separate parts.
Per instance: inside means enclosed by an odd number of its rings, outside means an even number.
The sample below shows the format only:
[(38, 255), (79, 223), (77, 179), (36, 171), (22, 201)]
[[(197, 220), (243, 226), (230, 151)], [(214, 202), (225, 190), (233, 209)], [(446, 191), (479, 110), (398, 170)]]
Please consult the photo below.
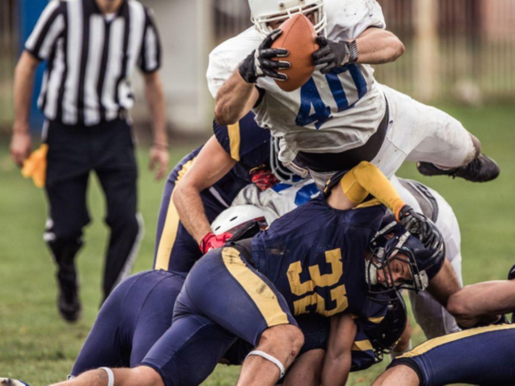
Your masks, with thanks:
[(154, 142), (150, 149), (149, 168), (153, 170), (157, 164), (155, 177), (156, 180), (160, 180), (165, 176), (168, 167), (168, 139), (166, 137), (163, 85), (158, 71), (145, 74), (144, 80), (154, 136)]

